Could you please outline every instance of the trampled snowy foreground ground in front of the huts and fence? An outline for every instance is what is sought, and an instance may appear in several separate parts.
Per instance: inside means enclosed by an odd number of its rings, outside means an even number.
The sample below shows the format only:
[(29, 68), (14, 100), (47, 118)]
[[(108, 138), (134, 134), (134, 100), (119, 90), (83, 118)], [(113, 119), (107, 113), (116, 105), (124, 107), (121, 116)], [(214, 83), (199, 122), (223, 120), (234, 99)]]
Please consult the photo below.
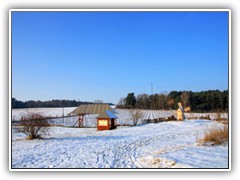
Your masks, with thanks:
[(228, 168), (228, 145), (196, 142), (214, 121), (162, 122), (110, 131), (52, 127), (41, 140), (12, 129), (12, 168)]

